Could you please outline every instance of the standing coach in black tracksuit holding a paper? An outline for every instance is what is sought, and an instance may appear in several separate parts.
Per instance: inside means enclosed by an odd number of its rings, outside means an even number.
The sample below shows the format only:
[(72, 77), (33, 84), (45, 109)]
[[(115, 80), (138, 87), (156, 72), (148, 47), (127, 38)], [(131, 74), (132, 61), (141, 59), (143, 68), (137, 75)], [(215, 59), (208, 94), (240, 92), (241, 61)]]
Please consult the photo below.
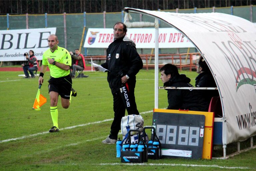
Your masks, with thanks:
[[(114, 41), (107, 49), (106, 63), (103, 68), (108, 69), (108, 83), (113, 94), (114, 120), (110, 135), (102, 143), (116, 143), (121, 128), (121, 119), (128, 114), (139, 114), (135, 102), (134, 88), (136, 74), (143, 67), (142, 60), (136, 51), (135, 44), (125, 37), (126, 26), (117, 22), (114, 25)], [(97, 71), (97, 68), (95, 68)]]

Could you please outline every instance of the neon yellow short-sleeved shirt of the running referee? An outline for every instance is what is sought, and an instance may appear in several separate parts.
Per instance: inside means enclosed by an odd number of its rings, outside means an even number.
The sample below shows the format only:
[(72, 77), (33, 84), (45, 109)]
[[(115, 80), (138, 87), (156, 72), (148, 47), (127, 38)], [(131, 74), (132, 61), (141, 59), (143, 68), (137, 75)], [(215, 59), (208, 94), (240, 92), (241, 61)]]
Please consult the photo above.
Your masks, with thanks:
[(50, 49), (46, 50), (43, 53), (42, 65), (48, 65), (50, 69), (50, 74), (53, 78), (65, 77), (70, 74), (69, 70), (66, 71), (55, 65), (49, 64), (47, 60), (48, 58), (54, 59), (54, 61), (58, 63), (71, 66), (71, 56), (65, 48), (58, 46), (53, 53)]

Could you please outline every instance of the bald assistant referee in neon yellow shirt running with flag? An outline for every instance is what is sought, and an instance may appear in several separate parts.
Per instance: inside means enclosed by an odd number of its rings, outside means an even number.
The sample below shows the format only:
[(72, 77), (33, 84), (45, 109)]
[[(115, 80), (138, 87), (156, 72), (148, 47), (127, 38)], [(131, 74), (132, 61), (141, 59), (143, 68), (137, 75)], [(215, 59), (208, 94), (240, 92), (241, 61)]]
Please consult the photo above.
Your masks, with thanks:
[(71, 66), (71, 56), (69, 52), (58, 46), (59, 40), (56, 35), (48, 37), (49, 48), (43, 54), (42, 67), (38, 83), (44, 82), (43, 76), (47, 66), (50, 69), (50, 79), (48, 80), (48, 89), (50, 95), (50, 112), (53, 121), (53, 127), (49, 132), (58, 132), (58, 97), (61, 96), (61, 105), (67, 109), (71, 102), (71, 96), (76, 96), (77, 92), (72, 88), (72, 79), (69, 68)]

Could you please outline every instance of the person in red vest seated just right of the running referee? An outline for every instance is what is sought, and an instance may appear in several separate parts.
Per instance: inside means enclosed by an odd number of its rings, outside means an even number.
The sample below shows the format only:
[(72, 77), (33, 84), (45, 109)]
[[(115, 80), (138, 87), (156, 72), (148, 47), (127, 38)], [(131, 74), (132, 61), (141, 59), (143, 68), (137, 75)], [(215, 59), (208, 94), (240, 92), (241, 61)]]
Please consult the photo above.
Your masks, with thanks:
[[(72, 78), (75, 78), (76, 71), (83, 71), (85, 67), (85, 61), (84, 56), (80, 54), (79, 49), (75, 50), (75, 54), (73, 52), (69, 52), (72, 58), (72, 61), (74, 61), (74, 64), (72, 65)], [(88, 77), (84, 76), (83, 74), (80, 74), (79, 77)]]

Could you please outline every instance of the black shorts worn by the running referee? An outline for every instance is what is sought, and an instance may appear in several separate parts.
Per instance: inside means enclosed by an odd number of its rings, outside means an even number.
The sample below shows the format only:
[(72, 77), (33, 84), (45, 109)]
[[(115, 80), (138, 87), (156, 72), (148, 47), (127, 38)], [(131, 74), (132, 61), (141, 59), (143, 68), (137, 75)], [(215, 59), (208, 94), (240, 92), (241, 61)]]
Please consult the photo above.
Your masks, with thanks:
[(59, 93), (62, 98), (70, 99), (70, 92), (72, 87), (72, 79), (70, 75), (60, 78), (50, 77), (48, 80), (48, 89)]

